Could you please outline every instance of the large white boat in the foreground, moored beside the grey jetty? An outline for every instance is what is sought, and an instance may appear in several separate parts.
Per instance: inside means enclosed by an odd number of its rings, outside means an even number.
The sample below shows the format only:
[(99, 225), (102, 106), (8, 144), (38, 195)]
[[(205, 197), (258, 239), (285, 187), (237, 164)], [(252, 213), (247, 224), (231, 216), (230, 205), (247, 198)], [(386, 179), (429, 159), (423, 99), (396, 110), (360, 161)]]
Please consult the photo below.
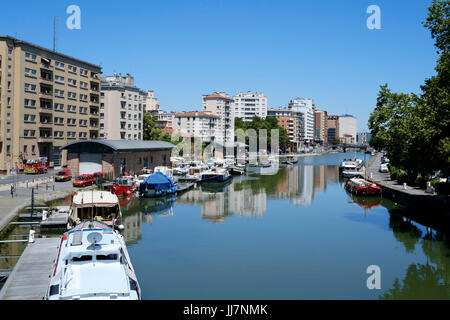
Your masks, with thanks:
[(62, 238), (48, 300), (140, 300), (141, 290), (118, 231), (86, 221)]

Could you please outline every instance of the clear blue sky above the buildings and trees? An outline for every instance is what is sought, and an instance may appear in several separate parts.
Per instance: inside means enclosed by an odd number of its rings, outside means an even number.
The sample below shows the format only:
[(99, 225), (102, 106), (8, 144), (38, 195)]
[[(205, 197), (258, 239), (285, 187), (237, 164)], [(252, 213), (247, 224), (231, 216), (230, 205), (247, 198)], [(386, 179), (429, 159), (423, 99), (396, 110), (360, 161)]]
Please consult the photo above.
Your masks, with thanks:
[[(436, 52), (422, 21), (431, 0), (4, 1), (0, 34), (130, 73), (167, 111), (201, 108), (202, 94), (264, 92), (269, 107), (313, 98), (367, 128), (379, 86), (419, 92)], [(66, 8), (81, 9), (69, 30)], [(369, 30), (369, 5), (381, 30)]]

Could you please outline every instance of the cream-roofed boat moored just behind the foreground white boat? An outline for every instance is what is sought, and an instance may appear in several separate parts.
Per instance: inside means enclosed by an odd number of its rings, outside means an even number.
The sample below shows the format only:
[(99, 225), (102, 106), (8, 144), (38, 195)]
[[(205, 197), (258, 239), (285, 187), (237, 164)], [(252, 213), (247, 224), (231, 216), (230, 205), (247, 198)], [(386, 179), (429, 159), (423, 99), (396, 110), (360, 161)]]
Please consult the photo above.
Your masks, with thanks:
[(109, 191), (98, 190), (82, 191), (74, 195), (69, 212), (70, 227), (91, 220), (123, 229), (117, 196)]

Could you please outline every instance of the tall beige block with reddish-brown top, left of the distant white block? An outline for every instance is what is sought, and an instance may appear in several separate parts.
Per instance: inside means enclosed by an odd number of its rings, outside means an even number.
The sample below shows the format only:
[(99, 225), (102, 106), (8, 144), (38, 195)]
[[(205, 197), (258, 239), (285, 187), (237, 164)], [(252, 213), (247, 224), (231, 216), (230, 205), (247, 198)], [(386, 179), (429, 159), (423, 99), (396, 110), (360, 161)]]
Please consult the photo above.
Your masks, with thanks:
[(234, 141), (234, 100), (224, 92), (203, 95), (202, 110), (219, 116), (215, 130), (217, 142)]

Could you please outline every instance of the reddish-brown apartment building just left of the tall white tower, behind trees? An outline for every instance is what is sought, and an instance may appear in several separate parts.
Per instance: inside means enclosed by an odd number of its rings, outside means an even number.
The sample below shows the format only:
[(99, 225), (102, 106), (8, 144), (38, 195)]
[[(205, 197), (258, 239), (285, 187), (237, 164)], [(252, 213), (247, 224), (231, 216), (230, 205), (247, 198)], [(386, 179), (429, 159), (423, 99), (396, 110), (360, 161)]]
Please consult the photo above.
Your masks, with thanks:
[(289, 151), (297, 151), (302, 145), (304, 136), (304, 115), (302, 112), (294, 111), (289, 108), (269, 109), (267, 111), (269, 117), (275, 117), (278, 120), (278, 125), (286, 129), (291, 142)]

